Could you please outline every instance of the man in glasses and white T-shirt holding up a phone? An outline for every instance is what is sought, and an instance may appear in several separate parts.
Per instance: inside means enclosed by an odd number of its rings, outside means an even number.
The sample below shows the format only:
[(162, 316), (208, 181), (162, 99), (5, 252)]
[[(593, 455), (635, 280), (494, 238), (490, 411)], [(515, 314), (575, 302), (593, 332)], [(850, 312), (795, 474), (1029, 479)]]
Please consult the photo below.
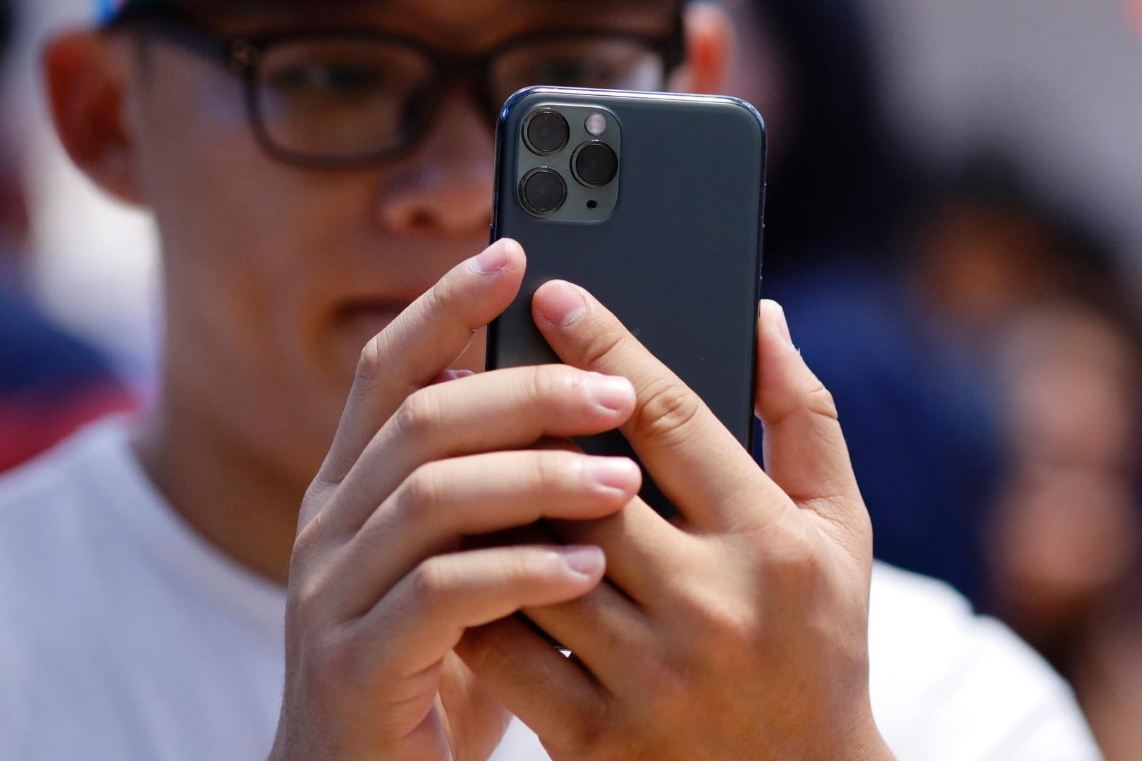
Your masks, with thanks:
[[(0, 754), (483, 759), (515, 714), (534, 735), (497, 758), (1097, 758), (1065, 687), (942, 588), (878, 569), (870, 620), (867, 513), (777, 305), (769, 475), (571, 284), (534, 298), (566, 366), (473, 374), (526, 266), (473, 256), (496, 104), (621, 87), (677, 8), (120, 13), (47, 73), (75, 162), (158, 219), (163, 395), (2, 489)], [(662, 83), (717, 89), (727, 37), (692, 14)], [(616, 426), (678, 521), (565, 445)]]

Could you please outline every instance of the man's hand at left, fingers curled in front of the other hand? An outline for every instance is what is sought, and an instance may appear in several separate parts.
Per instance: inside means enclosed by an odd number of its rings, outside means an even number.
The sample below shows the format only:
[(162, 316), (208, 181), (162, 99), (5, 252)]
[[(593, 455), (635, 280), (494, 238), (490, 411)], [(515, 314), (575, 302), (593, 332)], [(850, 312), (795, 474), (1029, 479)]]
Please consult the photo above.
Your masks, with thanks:
[(510, 303), (524, 267), (518, 244), (497, 243), (363, 351), (301, 505), (271, 759), (486, 758), (510, 715), (453, 647), (468, 628), (602, 580), (593, 547), (461, 547), (541, 518), (612, 515), (641, 485), (628, 460), (530, 448), (626, 422), (628, 381), (563, 365), (448, 371)]

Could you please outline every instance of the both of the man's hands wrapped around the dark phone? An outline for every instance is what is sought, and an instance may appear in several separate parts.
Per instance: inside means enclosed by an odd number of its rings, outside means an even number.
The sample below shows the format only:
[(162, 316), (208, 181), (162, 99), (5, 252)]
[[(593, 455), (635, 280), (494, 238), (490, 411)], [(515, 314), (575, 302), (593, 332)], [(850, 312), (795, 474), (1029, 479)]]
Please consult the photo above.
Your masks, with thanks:
[[(493, 245), (362, 354), (301, 510), (271, 759), (484, 759), (512, 713), (556, 760), (891, 758), (868, 517), (780, 308), (761, 310), (767, 477), (570, 284), (536, 297), (568, 365), (448, 371), (524, 266)], [(682, 519), (637, 499), (633, 462), (546, 445), (616, 427)], [(560, 541), (463, 544), (541, 519)]]

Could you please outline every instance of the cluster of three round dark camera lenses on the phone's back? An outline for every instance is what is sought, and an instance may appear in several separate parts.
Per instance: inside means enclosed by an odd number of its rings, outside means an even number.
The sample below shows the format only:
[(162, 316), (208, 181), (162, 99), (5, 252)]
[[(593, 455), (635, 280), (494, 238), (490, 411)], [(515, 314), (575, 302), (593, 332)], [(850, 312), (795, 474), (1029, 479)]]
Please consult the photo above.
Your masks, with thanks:
[[(568, 201), (566, 180), (553, 167), (569, 167), (576, 181), (588, 191), (603, 188), (618, 176), (619, 156), (616, 149), (598, 137), (593, 137), (596, 133), (586, 127), (577, 132), (581, 135), (576, 138), (577, 143), (582, 138), (588, 139), (571, 153), (565, 149), (571, 141), (572, 130), (566, 118), (555, 108), (537, 108), (524, 122), (523, 141), (528, 149), (550, 163), (531, 169), (520, 183), (520, 199), (531, 213), (552, 214)], [(581, 201), (588, 210), (598, 208), (598, 201), (589, 196), (579, 199), (580, 194), (581, 192), (571, 193), (576, 196), (577, 204)]]

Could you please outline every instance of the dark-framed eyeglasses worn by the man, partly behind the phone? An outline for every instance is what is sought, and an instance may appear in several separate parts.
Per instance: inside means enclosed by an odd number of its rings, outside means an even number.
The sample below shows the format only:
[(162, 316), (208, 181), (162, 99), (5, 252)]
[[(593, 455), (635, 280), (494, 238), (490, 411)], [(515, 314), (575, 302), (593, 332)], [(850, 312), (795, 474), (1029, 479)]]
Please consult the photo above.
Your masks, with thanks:
[(412, 149), (457, 84), (472, 88), (494, 128), (501, 104), (523, 87), (660, 90), (683, 59), (681, 23), (668, 37), (534, 34), (475, 56), (368, 30), (227, 37), (164, 17), (145, 24), (240, 76), (262, 148), (316, 169), (384, 163)]

